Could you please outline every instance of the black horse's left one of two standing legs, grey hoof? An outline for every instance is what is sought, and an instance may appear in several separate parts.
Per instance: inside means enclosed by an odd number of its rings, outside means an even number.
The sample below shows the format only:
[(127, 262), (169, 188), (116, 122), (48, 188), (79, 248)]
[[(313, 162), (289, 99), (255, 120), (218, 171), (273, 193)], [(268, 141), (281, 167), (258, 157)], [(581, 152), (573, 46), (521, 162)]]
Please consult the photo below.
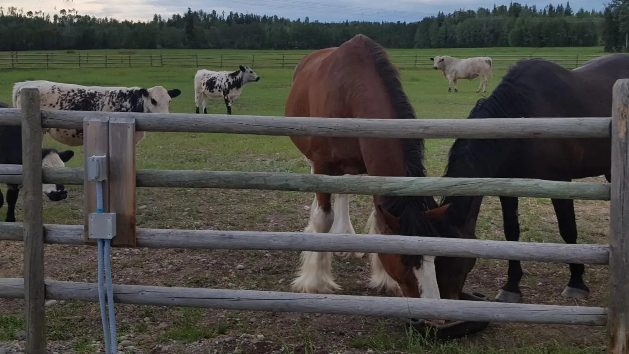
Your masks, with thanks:
[[(507, 241), (520, 240), (520, 224), (518, 223), (518, 198), (500, 197), (503, 209), (504, 238)], [(496, 295), (498, 302), (519, 302), (520, 280), (522, 279), (522, 266), (519, 260), (509, 260), (508, 279), (503, 288)]]

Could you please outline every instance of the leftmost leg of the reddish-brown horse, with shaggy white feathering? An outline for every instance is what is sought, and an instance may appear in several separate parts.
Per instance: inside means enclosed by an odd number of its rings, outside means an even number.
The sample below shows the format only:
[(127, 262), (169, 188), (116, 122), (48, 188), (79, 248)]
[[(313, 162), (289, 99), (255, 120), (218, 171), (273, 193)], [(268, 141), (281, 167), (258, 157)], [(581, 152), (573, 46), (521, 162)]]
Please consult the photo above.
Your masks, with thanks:
[[(311, 165), (310, 172), (321, 173)], [(310, 208), (310, 220), (304, 232), (328, 233), (334, 222), (334, 211), (331, 206), (331, 194), (316, 193)], [(292, 281), (292, 290), (318, 294), (329, 294), (341, 287), (334, 282), (332, 276), (332, 252), (303, 251), (299, 257), (298, 277)]]

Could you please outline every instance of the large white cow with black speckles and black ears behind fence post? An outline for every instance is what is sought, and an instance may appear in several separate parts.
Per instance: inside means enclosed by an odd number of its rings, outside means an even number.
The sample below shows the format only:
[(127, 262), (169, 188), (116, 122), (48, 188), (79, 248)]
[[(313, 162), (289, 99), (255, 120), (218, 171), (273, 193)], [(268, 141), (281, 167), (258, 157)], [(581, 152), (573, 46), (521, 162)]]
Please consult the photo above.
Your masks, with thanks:
[[(40, 91), (42, 109), (59, 111), (103, 111), (135, 113), (169, 113), (170, 100), (181, 94), (179, 89), (166, 90), (162, 86), (103, 87), (62, 84), (46, 80), (16, 82), (13, 86), (13, 106), (19, 108), (19, 92), (23, 88)], [(70, 147), (83, 145), (83, 130), (48, 128), (54, 140)], [(135, 143), (145, 136), (144, 131), (135, 133)]]

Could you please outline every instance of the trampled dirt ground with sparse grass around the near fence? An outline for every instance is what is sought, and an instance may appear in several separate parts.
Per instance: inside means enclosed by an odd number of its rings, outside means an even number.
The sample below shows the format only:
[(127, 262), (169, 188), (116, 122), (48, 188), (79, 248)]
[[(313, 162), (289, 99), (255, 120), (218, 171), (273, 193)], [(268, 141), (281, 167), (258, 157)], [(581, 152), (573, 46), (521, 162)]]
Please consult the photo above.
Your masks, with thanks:
[[(138, 189), (138, 227), (303, 231), (312, 197), (296, 192)], [(353, 225), (359, 233), (369, 216), (369, 202), (365, 196), (353, 196), (350, 202)], [(72, 191), (64, 203), (76, 211), (73, 223), (78, 223), (81, 191)], [(562, 243), (550, 201), (520, 199), (520, 213), (523, 240)], [(576, 201), (576, 213), (579, 243), (608, 243), (608, 202)], [(498, 198), (486, 197), (477, 236), (503, 240), (500, 216)], [(299, 253), (116, 248), (112, 256), (114, 284), (291, 291)], [(22, 260), (22, 243), (0, 241), (0, 277), (21, 277)], [(238, 265), (244, 267), (237, 269)], [(50, 279), (96, 282), (96, 250), (89, 246), (47, 245), (45, 267)], [(506, 280), (506, 267), (506, 261), (477, 260), (466, 290), (495, 296)], [(560, 296), (569, 279), (567, 265), (523, 262), (523, 267), (522, 302), (605, 305), (606, 266), (586, 266), (591, 296), (585, 300)], [(384, 296), (367, 289), (369, 257), (335, 260), (333, 268), (343, 287), (340, 294)], [(0, 343), (13, 343), (18, 349), (23, 344), (13, 338), (14, 331), (23, 326), (19, 322), (22, 314), (23, 301), (0, 299), (0, 340), (4, 340)], [(100, 321), (97, 304), (61, 301), (51, 305), (47, 309), (51, 353), (102, 352)], [(394, 319), (118, 304), (116, 321), (120, 340), (132, 344), (126, 351), (135, 353), (461, 352), (443, 346), (430, 350), (425, 345), (409, 345), (403, 324)], [(557, 346), (589, 353), (604, 350), (604, 328), (493, 323), (481, 333), (455, 343), (470, 348), (462, 352), (476, 348), (475, 352), (484, 353), (491, 348), (511, 353), (521, 348)], [(5, 352), (11, 353), (12, 349)]]

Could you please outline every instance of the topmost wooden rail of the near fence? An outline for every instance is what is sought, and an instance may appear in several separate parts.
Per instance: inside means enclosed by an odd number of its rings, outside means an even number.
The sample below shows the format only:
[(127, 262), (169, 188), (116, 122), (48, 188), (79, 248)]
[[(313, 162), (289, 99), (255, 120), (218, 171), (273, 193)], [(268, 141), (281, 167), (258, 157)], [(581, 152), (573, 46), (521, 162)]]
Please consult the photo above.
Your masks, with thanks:
[[(44, 128), (82, 129), (86, 113), (42, 111)], [(338, 138), (609, 138), (610, 118), (343, 119), (189, 113), (90, 112), (128, 117), (136, 131), (230, 133)], [(1, 109), (0, 123), (19, 125), (19, 109)]]

